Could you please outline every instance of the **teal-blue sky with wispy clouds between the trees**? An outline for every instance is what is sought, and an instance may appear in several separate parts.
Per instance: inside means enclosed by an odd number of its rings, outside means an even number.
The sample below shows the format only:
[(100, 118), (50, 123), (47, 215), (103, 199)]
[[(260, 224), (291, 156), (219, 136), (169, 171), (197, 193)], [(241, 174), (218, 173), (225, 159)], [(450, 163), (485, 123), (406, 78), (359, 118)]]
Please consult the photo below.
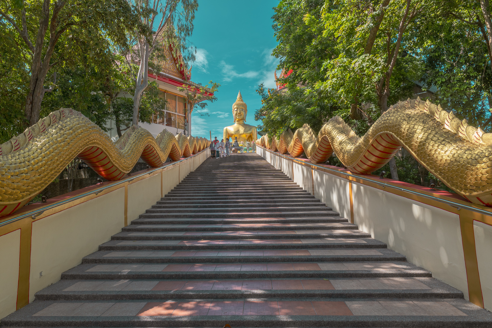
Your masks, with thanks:
[(255, 92), (260, 83), (274, 88), (278, 60), (272, 57), (277, 41), (272, 30), (273, 7), (278, 0), (201, 0), (190, 41), (198, 48), (191, 80), (220, 83), (217, 101), (207, 106), (210, 117), (191, 115), (191, 135), (221, 139), (225, 126), (232, 125), (232, 104), (241, 90), (247, 104), (246, 123), (261, 107)]

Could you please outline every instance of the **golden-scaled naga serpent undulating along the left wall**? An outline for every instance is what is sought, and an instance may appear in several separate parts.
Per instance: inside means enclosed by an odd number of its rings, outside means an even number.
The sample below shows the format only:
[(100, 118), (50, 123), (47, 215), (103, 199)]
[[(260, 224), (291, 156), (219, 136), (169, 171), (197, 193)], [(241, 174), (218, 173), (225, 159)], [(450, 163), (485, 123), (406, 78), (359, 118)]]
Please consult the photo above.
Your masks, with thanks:
[(62, 108), (0, 145), (0, 217), (27, 204), (62, 173), (75, 157), (104, 179), (119, 180), (140, 157), (152, 167), (188, 157), (209, 146), (204, 138), (164, 129), (154, 139), (132, 125), (115, 143), (90, 119)]

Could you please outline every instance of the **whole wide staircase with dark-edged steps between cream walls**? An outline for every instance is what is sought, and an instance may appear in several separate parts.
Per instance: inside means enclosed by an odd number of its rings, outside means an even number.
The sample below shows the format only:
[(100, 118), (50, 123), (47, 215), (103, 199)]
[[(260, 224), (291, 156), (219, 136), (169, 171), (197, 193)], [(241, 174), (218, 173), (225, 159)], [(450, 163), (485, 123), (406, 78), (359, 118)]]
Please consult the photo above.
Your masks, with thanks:
[[(62, 246), (62, 245), (61, 245)], [(1, 327), (492, 327), (256, 154), (208, 159)]]

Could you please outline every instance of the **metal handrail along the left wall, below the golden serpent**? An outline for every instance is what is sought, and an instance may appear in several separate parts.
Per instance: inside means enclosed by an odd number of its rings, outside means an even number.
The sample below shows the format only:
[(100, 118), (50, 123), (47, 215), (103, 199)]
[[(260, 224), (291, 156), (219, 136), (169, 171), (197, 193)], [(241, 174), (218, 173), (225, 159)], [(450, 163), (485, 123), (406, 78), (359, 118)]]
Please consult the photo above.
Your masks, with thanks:
[(84, 197), (89, 196), (89, 195), (92, 195), (92, 194), (96, 194), (96, 195), (97, 195), (98, 193), (102, 192), (102, 191), (103, 191), (103, 190), (105, 190), (105, 189), (112, 188), (112, 187), (114, 187), (114, 186), (117, 186), (117, 185), (122, 184), (122, 183), (125, 183), (125, 182), (130, 182), (130, 181), (132, 181), (133, 179), (137, 179), (137, 178), (143, 177), (143, 176), (145, 176), (145, 175), (147, 175), (147, 174), (151, 174), (151, 173), (153, 173), (153, 172), (155, 172), (155, 171), (157, 171), (157, 170), (160, 170), (160, 169), (162, 169), (162, 168), (165, 168), (165, 167), (168, 167), (168, 166), (172, 166), (172, 165), (178, 164), (178, 163), (180, 163), (180, 162), (182, 162), (182, 161), (184, 161), (184, 160), (186, 160), (186, 159), (188, 159), (188, 158), (192, 158), (192, 157), (194, 157), (194, 156), (196, 156), (196, 155), (198, 155), (198, 154), (200, 154), (201, 152), (206, 151), (206, 150), (208, 150), (208, 149), (204, 149), (204, 150), (202, 150), (202, 151), (199, 151), (199, 152), (197, 152), (196, 154), (191, 155), (191, 156), (186, 157), (186, 158), (183, 158), (183, 159), (180, 159), (179, 161), (176, 161), (176, 162), (171, 162), (171, 163), (169, 163), (169, 164), (167, 164), (167, 165), (159, 166), (159, 167), (156, 167), (156, 168), (154, 168), (154, 169), (152, 169), (152, 170), (150, 170), (150, 169), (149, 169), (150, 171), (147, 171), (147, 172), (145, 172), (145, 173), (141, 173), (141, 174), (139, 174), (139, 175), (137, 175), (137, 176), (130, 176), (130, 177), (126, 178), (126, 179), (123, 179), (123, 180), (118, 180), (118, 181), (116, 181), (116, 182), (114, 182), (114, 183), (112, 183), (112, 184), (108, 184), (108, 185), (106, 185), (106, 186), (104, 186), (104, 187), (100, 187), (100, 188), (97, 188), (97, 189), (91, 190), (91, 191), (86, 192), (86, 193), (84, 193), (84, 194), (80, 194), (80, 195), (77, 195), (77, 196), (74, 196), (74, 197), (71, 197), (71, 198), (65, 199), (65, 200), (63, 200), (63, 201), (60, 201), (60, 202), (57, 202), (57, 203), (53, 203), (53, 204), (51, 204), (51, 205), (48, 205), (48, 206), (43, 207), (43, 208), (40, 208), (40, 209), (34, 209), (34, 210), (31, 210), (31, 211), (29, 211), (29, 212), (27, 212), (27, 213), (24, 213), (24, 214), (21, 214), (21, 215), (19, 215), (19, 216), (16, 216), (16, 217), (10, 218), (10, 219), (8, 219), (8, 220), (5, 220), (5, 221), (3, 221), (3, 222), (0, 222), (0, 227), (3, 227), (3, 226), (5, 226), (5, 225), (7, 225), (7, 224), (10, 224), (10, 223), (12, 223), (12, 222), (15, 222), (15, 221), (21, 220), (21, 219), (23, 219), (23, 218), (25, 218), (25, 217), (28, 217), (28, 216), (31, 216), (31, 218), (34, 220), (36, 217), (38, 217), (39, 215), (41, 215), (44, 211), (46, 211), (46, 210), (48, 210), (48, 209), (54, 209), (54, 208), (59, 207), (59, 206), (61, 206), (61, 205), (63, 205), (63, 204), (66, 204), (66, 203), (70, 203), (70, 202), (76, 201), (76, 200), (78, 200), (78, 199), (84, 198)]

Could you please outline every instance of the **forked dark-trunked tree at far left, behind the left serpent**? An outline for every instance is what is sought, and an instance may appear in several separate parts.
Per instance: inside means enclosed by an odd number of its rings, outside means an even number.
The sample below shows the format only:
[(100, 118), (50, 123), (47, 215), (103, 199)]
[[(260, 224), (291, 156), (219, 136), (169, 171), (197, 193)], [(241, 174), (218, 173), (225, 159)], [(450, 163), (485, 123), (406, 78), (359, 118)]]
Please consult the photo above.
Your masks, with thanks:
[(45, 93), (55, 88), (55, 80), (45, 83), (48, 71), (78, 57), (80, 50), (98, 56), (108, 43), (126, 46), (125, 31), (137, 24), (125, 0), (2, 0), (0, 17), (24, 50), (27, 125), (38, 121)]

